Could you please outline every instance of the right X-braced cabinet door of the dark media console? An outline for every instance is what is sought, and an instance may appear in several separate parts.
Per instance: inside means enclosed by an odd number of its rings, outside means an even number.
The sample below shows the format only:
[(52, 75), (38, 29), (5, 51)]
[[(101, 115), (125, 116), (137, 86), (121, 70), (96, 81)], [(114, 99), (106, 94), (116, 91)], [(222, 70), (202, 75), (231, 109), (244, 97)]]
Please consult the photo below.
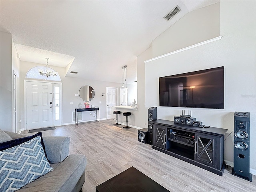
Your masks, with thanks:
[(195, 138), (195, 161), (215, 167), (216, 137), (203, 134), (195, 134)]

